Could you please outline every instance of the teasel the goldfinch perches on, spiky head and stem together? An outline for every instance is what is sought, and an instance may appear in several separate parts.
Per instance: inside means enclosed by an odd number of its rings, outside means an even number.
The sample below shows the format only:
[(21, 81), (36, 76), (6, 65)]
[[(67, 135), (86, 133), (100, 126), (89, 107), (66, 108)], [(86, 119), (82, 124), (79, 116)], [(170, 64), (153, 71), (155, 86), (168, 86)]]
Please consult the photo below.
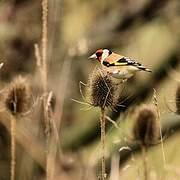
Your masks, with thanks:
[(89, 75), (87, 98), (90, 104), (101, 109), (101, 179), (106, 178), (105, 167), (105, 109), (113, 109), (118, 102), (118, 85), (107, 71), (95, 68)]

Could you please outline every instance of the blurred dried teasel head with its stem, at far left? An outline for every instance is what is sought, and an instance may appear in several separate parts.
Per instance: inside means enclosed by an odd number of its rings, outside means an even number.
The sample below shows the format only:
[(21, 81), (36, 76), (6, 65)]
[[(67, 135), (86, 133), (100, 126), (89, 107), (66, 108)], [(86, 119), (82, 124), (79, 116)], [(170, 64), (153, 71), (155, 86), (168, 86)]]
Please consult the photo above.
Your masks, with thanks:
[(9, 85), (5, 97), (5, 107), (11, 113), (11, 180), (15, 179), (16, 165), (16, 121), (19, 115), (30, 107), (30, 88), (27, 80), (18, 77)]

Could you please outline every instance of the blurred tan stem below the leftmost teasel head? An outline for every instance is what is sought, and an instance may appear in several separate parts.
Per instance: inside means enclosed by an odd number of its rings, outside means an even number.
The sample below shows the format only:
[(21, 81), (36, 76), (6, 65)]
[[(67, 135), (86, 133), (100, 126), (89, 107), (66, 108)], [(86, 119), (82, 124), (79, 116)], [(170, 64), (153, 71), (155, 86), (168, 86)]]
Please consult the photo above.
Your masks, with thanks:
[(15, 180), (16, 167), (16, 119), (11, 117), (11, 180)]

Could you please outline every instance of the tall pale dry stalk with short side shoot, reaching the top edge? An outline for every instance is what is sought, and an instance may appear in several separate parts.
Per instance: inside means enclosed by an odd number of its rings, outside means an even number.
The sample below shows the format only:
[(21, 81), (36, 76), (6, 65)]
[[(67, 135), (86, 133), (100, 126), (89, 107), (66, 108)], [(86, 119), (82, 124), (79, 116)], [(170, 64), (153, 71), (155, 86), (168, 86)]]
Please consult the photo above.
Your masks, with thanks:
[(50, 122), (49, 112), (47, 109), (47, 91), (48, 91), (48, 80), (47, 80), (47, 45), (48, 45), (48, 0), (42, 0), (42, 38), (41, 38), (41, 51), (39, 45), (35, 44), (35, 56), (36, 64), (40, 71), (43, 87), (43, 116), (45, 123), (45, 136), (46, 136), (46, 176), (47, 179), (51, 177), (51, 167), (49, 163), (49, 139), (50, 139)]

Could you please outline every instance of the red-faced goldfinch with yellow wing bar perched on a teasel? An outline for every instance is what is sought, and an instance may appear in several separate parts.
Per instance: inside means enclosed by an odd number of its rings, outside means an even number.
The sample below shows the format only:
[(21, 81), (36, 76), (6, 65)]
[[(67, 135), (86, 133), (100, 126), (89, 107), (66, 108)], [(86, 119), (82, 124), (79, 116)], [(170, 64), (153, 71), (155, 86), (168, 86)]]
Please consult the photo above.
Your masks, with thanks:
[(89, 58), (97, 59), (101, 62), (102, 66), (106, 68), (110, 75), (123, 81), (132, 77), (138, 71), (152, 72), (141, 63), (131, 58), (116, 54), (109, 49), (98, 49)]

